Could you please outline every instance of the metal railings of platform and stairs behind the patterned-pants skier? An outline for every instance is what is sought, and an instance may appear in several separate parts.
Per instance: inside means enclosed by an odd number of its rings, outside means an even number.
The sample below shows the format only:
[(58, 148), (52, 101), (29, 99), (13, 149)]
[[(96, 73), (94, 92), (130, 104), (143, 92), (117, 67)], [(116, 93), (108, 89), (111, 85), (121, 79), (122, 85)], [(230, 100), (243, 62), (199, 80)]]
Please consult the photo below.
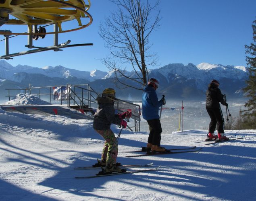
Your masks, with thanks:
[[(68, 107), (78, 107), (79, 109), (84, 110), (86, 113), (90, 112), (94, 114), (92, 107), (97, 108), (96, 98), (100, 96), (101, 93), (96, 92), (89, 86), (89, 84), (67, 84), (67, 99), (66, 100), (54, 100), (53, 88), (61, 87), (58, 86), (40, 86), (40, 87), (31, 87), (29, 84), (29, 88), (25, 89), (14, 89), (14, 88), (7, 88), (8, 90), (8, 100), (11, 97), (15, 97), (16, 95), (11, 94), (11, 91), (19, 91), (20, 93), (25, 91), (25, 93), (29, 93), (30, 95), (35, 95), (41, 98), (42, 100), (48, 101), (49, 103), (56, 103), (56, 105), (60, 104), (67, 104)], [(66, 86), (65, 86), (66, 87)], [(73, 102), (73, 105), (72, 105)], [(140, 106), (134, 103), (130, 103), (125, 100), (121, 100), (117, 98), (117, 101), (114, 105), (115, 109), (119, 112), (127, 111), (127, 109), (132, 109), (132, 119), (134, 119), (134, 127), (135, 131), (140, 131)]]

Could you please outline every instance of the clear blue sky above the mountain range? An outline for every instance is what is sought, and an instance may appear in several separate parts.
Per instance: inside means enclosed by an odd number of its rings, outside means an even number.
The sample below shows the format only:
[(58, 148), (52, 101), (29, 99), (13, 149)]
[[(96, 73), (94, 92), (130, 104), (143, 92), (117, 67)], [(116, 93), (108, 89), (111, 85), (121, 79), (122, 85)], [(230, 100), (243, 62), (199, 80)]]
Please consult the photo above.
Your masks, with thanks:
[[(91, 0), (88, 12), (93, 18), (92, 25), (79, 31), (59, 34), (59, 43), (71, 40), (71, 44), (94, 43), (93, 46), (23, 55), (7, 62), (12, 66), (22, 64), (42, 68), (61, 65), (83, 71), (108, 71), (100, 62), (109, 51), (104, 47), (98, 29), (100, 22), (104, 22), (104, 17), (109, 16), (114, 9), (115, 6), (108, 0)], [(153, 68), (171, 63), (198, 65), (202, 62), (246, 66), (244, 45), (252, 42), (256, 0), (162, 0), (160, 9), (161, 26), (150, 38), (153, 43), (151, 51), (159, 57), (158, 66)], [(67, 22), (65, 26), (74, 25), (77, 25), (76, 21)], [(26, 26), (14, 25), (3, 25), (1, 29), (27, 31)], [(51, 46), (52, 41), (53, 37), (47, 35), (45, 39), (34, 41), (33, 45)], [(26, 36), (14, 37), (9, 43), (10, 53), (29, 50), (25, 47)], [(0, 44), (0, 53), (4, 55), (4, 41)]]

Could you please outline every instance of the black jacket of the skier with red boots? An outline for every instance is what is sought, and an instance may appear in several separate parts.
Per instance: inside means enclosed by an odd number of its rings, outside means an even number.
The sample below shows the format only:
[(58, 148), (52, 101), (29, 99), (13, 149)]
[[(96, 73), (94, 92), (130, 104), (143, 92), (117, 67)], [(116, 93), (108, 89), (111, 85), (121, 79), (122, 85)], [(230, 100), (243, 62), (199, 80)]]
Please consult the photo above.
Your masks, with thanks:
[(226, 105), (221, 90), (215, 84), (209, 84), (206, 91), (206, 109), (219, 108), (220, 103)]

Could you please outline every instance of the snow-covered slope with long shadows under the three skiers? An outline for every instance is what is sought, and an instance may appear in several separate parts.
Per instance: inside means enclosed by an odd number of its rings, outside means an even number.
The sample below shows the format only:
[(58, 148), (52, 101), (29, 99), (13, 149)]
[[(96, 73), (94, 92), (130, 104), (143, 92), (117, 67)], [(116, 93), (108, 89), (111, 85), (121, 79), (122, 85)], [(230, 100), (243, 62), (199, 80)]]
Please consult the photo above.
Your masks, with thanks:
[[(17, 100), (19, 101), (19, 100)], [(157, 171), (75, 179), (96, 170), (103, 139), (91, 120), (6, 113), (0, 109), (0, 200), (255, 200), (256, 130), (226, 131), (243, 139), (206, 145), (207, 130), (162, 133), (162, 146), (200, 152), (127, 158), (146, 132), (123, 129), (118, 162), (161, 165)], [(112, 130), (118, 135), (120, 129)], [(200, 142), (200, 143), (198, 143)]]

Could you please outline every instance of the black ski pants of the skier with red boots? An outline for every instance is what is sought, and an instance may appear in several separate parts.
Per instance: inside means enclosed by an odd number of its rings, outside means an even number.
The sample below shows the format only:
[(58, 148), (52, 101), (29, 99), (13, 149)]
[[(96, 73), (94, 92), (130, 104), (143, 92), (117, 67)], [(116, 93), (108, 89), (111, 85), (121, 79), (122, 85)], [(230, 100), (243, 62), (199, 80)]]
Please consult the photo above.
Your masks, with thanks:
[(224, 133), (224, 118), (221, 111), (221, 107), (219, 108), (206, 108), (211, 121), (209, 124), (209, 133), (214, 133), (216, 125), (218, 133)]

